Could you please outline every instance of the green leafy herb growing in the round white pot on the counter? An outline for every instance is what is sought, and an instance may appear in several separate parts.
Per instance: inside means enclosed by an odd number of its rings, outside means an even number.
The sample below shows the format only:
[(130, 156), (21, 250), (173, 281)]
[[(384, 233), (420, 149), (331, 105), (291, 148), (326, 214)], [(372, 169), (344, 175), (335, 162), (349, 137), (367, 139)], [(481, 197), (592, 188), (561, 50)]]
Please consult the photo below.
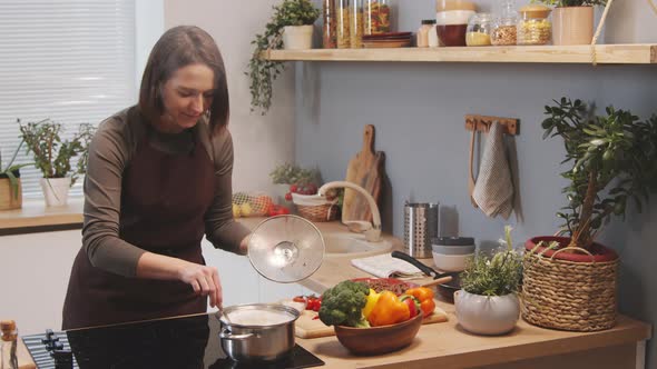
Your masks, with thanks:
[(478, 252), (468, 260), (461, 273), (463, 290), (482, 296), (504, 296), (520, 291), (522, 255), (513, 250), (510, 226), (504, 227), (504, 240), (492, 257)]

